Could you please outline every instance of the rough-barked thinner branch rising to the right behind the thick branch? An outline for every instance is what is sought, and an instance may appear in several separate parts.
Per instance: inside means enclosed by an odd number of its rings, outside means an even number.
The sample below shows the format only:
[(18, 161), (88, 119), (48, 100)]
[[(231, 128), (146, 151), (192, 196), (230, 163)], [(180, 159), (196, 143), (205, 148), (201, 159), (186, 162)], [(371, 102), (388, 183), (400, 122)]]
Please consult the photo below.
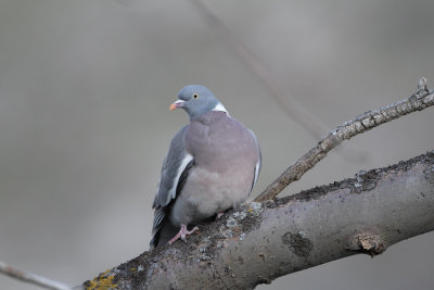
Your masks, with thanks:
[(317, 143), (316, 147), (310, 149), (297, 162), (292, 164), (284, 173), (282, 173), (278, 179), (269, 185), (266, 190), (255, 199), (255, 201), (275, 199), (285, 187), (298, 180), (307, 171), (312, 168), (327, 155), (327, 153), (339, 146), (342, 141), (411, 112), (421, 111), (433, 104), (434, 91), (427, 90), (426, 78), (422, 77), (419, 80), (418, 91), (411, 97), (395, 104), (366, 112), (330, 131), (327, 137)]

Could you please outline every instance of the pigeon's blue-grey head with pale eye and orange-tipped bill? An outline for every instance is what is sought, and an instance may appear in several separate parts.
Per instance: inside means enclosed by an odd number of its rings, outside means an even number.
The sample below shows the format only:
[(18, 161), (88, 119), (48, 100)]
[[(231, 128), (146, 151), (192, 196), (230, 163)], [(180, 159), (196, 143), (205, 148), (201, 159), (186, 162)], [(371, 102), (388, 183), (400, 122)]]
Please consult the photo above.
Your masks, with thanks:
[(213, 110), (227, 112), (210, 90), (199, 85), (183, 87), (178, 92), (178, 100), (170, 105), (170, 111), (177, 108), (186, 110), (190, 118), (199, 117)]

